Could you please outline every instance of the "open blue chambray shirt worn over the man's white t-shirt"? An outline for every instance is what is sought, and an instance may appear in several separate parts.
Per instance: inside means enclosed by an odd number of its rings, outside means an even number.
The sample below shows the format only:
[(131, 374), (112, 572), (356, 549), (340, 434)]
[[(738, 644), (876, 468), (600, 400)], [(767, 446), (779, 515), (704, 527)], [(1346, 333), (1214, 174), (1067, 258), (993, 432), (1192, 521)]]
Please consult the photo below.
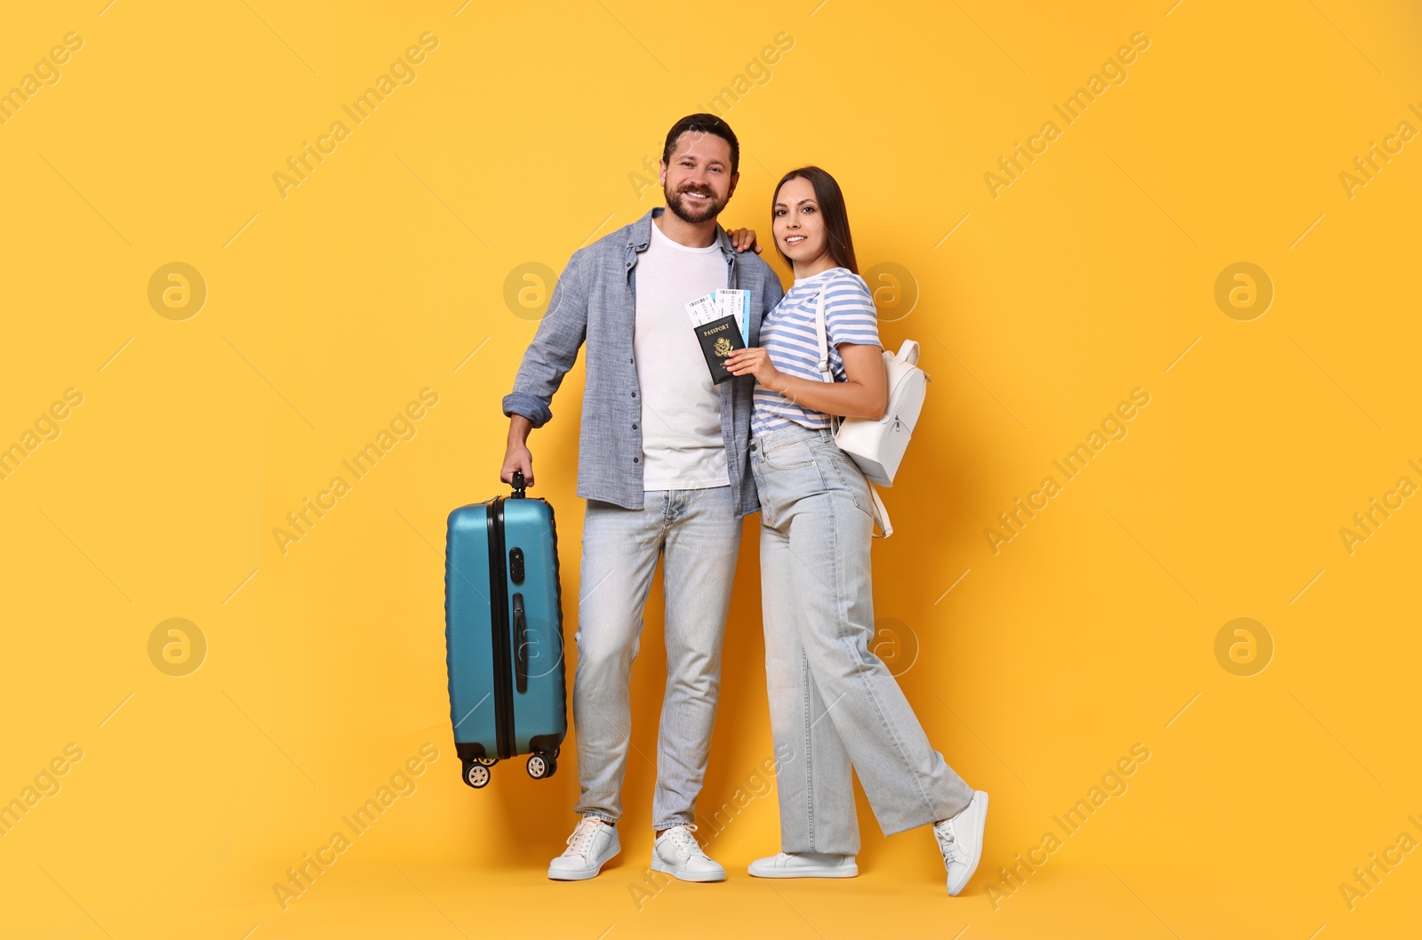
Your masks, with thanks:
[[(577, 495), (626, 509), (646, 505), (641, 476), (641, 401), (633, 330), (637, 323), (637, 256), (651, 240), (653, 209), (631, 225), (574, 252), (553, 289), (547, 314), (523, 354), (513, 391), (503, 397), (505, 415), (523, 415), (540, 428), (553, 417), (553, 392), (587, 343), (583, 427), (577, 449)], [(785, 293), (771, 266), (754, 252), (737, 255), (731, 237), (717, 226), (725, 256), (727, 287), (751, 292), (749, 346), (759, 346), (761, 320)], [(691, 320), (687, 320), (691, 329)], [(727, 484), (737, 516), (759, 512), (751, 478), (751, 395), (755, 378), (739, 375), (721, 384), (721, 434), (725, 438)]]

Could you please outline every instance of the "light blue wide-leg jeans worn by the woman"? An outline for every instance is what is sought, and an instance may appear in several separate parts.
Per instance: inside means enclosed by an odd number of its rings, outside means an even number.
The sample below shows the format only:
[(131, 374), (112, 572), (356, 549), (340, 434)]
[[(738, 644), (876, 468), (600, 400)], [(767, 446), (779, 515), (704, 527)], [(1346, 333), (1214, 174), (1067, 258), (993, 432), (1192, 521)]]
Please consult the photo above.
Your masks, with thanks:
[(929, 745), (875, 634), (869, 484), (829, 431), (751, 441), (761, 495), (765, 678), (781, 850), (859, 852), (849, 768), (893, 835), (958, 815), (973, 789)]

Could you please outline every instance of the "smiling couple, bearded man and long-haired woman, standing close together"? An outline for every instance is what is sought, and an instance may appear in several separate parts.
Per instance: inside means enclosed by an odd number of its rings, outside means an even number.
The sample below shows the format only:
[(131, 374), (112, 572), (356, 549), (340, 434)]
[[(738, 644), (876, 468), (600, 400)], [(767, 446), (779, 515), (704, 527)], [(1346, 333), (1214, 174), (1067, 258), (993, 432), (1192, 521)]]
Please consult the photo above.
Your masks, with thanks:
[[(850, 765), (886, 835), (933, 826), (947, 889), (978, 865), (987, 794), (929, 745), (899, 684), (869, 651), (872, 501), (829, 431), (830, 415), (879, 418), (887, 380), (873, 297), (856, 273), (839, 185), (806, 166), (775, 189), (772, 233), (795, 273), (784, 293), (754, 232), (717, 225), (738, 179), (739, 145), (721, 118), (693, 114), (667, 134), (667, 209), (573, 255), (503, 398), (502, 478), (533, 484), (532, 428), (587, 344), (577, 495), (583, 522), (573, 721), (582, 816), (557, 880), (594, 877), (620, 850), (631, 735), (629, 683), (658, 556), (667, 691), (657, 744), (651, 867), (687, 882), (725, 869), (693, 835), (721, 684), (721, 641), (741, 518), (761, 513), (765, 673), (775, 741), (781, 852), (759, 877), (852, 877), (859, 823)], [(757, 249), (758, 250), (758, 249)], [(748, 290), (749, 341), (721, 385), (685, 304)], [(833, 383), (820, 378), (816, 300)]]

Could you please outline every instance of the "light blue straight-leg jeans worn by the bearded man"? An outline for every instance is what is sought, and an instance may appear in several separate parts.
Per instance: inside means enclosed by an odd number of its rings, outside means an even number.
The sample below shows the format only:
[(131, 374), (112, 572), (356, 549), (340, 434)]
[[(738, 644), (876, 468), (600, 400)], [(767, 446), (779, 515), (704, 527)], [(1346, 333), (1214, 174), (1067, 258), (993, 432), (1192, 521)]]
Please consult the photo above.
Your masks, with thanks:
[(741, 520), (731, 486), (648, 491), (641, 509), (587, 501), (577, 599), (577, 813), (621, 818), (631, 745), (631, 661), (657, 557), (663, 557), (667, 691), (657, 741), (654, 829), (695, 822), (721, 691)]

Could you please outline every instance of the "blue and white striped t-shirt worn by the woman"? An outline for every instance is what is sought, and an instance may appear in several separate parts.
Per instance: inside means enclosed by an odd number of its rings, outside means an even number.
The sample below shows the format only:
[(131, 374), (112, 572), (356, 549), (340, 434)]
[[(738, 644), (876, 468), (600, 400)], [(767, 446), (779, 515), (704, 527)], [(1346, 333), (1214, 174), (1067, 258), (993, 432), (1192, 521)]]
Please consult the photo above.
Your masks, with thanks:
[[(815, 331), (815, 306), (825, 292), (825, 333), (829, 337), (829, 368), (835, 381), (845, 381), (845, 360), (840, 343), (882, 346), (879, 317), (869, 284), (848, 267), (802, 277), (775, 306), (761, 324), (761, 346), (769, 351), (775, 368), (786, 375), (823, 381), (819, 373), (819, 336)], [(829, 415), (792, 402), (778, 391), (755, 385), (755, 411), (751, 434), (765, 434), (778, 428), (801, 425), (828, 428)]]

